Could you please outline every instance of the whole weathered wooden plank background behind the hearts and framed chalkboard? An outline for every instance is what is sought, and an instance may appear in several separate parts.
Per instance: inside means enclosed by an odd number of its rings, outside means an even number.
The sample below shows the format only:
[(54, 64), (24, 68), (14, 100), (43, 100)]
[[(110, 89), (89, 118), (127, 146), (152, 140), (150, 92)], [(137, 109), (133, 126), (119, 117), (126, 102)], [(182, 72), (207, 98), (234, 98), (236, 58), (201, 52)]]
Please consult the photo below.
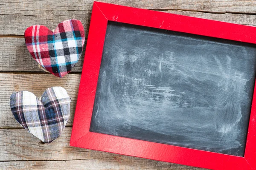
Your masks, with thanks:
[[(256, 1), (253, 0), (102, 2), (256, 26)], [(78, 19), (84, 25), (87, 39), (92, 5), (93, 0), (0, 0), (0, 169), (200, 169), (69, 146), (84, 53), (72, 72), (60, 79), (38, 68), (26, 49), (23, 35), (32, 25), (54, 29), (61, 21)], [(46, 88), (52, 86), (62, 86), (70, 94), (71, 115), (61, 137), (51, 144), (42, 144), (16, 122), (9, 97), (12, 92), (21, 90), (40, 97)]]

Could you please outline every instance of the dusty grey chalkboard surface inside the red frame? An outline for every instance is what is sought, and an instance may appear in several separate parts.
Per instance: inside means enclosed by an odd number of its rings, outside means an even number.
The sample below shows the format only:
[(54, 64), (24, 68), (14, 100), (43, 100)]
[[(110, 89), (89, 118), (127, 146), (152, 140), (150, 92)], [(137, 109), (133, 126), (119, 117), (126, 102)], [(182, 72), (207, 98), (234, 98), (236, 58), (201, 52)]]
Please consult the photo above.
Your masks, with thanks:
[(254, 44), (108, 22), (90, 131), (244, 156), (255, 68)]

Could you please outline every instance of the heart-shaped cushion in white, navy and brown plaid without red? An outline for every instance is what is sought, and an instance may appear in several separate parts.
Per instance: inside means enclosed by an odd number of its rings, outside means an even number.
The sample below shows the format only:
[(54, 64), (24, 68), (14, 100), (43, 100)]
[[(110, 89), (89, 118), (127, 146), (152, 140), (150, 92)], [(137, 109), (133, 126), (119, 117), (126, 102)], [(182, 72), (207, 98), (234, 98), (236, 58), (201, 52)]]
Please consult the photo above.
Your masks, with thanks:
[(14, 92), (10, 102), (20, 125), (45, 143), (61, 135), (70, 116), (71, 99), (62, 87), (47, 88), (41, 100), (29, 91)]

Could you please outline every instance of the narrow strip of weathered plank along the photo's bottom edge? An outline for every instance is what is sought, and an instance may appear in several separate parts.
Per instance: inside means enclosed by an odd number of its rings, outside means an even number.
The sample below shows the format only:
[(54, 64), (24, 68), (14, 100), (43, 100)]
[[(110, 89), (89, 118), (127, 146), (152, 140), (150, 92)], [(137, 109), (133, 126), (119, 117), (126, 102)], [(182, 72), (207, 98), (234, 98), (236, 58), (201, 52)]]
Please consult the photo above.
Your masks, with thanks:
[(72, 161), (9, 161), (1, 162), (1, 167), (5, 170), (204, 170), (147, 159), (123, 159), (122, 156)]

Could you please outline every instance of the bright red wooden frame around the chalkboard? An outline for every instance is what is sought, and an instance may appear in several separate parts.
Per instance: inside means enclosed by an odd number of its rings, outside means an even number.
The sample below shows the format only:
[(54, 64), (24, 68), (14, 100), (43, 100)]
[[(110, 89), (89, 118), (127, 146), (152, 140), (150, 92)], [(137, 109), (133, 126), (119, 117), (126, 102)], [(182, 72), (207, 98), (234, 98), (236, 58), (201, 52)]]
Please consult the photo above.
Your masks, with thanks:
[(244, 157), (89, 131), (108, 20), (256, 44), (256, 27), (94, 2), (70, 145), (195, 167), (255, 170), (256, 86)]

